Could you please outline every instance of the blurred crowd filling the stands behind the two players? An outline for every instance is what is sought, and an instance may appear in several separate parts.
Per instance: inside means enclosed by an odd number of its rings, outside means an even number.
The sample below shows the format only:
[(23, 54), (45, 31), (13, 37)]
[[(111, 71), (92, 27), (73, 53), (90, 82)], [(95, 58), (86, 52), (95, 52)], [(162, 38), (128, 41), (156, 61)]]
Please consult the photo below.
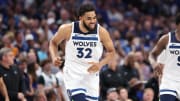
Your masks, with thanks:
[[(100, 72), (100, 99), (158, 101), (159, 78), (148, 54), (160, 35), (175, 30), (180, 0), (0, 0), (0, 48), (13, 49), (27, 100), (68, 101), (63, 66), (52, 65), (48, 42), (61, 24), (77, 20), (82, 3), (95, 5), (117, 52)], [(63, 57), (63, 44), (59, 50)]]

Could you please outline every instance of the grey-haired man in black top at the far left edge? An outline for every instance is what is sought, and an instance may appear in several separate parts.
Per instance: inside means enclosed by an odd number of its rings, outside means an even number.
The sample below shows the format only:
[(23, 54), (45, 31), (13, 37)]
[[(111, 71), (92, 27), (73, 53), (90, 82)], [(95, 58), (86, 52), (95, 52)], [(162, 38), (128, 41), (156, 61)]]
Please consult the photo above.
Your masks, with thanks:
[(10, 101), (26, 101), (23, 76), (14, 65), (14, 54), (10, 48), (0, 50), (0, 75), (3, 76)]

